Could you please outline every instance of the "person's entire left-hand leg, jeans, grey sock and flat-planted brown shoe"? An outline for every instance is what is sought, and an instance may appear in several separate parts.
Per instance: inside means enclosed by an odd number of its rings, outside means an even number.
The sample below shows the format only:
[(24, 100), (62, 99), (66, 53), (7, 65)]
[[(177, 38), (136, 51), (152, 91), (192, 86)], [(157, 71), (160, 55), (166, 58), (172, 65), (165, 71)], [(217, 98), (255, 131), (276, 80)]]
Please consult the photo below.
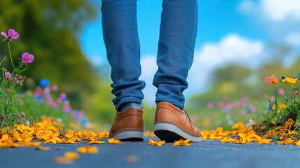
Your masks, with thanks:
[(141, 75), (136, 0), (102, 0), (102, 28), (111, 65), (112, 93), (117, 111), (109, 137), (143, 140), (144, 95)]

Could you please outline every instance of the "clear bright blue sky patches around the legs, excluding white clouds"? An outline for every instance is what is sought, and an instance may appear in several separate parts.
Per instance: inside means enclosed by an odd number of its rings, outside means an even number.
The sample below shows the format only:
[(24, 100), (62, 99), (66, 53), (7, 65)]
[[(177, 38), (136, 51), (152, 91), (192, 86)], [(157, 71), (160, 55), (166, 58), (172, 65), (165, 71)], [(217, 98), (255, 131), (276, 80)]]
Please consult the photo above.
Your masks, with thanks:
[[(161, 22), (161, 0), (137, 1), (137, 21), (141, 55), (156, 53)], [(240, 0), (206, 0), (198, 3), (198, 36), (196, 48), (207, 41), (219, 41), (224, 34), (236, 33), (254, 39), (265, 40), (264, 29), (252, 22), (252, 18), (241, 15), (237, 10)], [(83, 52), (88, 56), (105, 59), (102, 40), (101, 13), (95, 22), (86, 25), (81, 36)]]

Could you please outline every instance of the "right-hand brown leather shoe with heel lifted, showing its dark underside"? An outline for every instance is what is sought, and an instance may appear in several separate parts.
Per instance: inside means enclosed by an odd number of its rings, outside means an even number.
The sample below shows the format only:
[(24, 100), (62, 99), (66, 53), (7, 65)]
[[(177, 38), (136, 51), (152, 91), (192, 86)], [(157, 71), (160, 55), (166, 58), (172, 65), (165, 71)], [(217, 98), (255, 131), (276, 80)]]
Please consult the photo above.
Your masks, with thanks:
[(168, 102), (158, 102), (155, 114), (154, 134), (165, 141), (190, 139), (202, 141), (202, 135), (186, 112)]

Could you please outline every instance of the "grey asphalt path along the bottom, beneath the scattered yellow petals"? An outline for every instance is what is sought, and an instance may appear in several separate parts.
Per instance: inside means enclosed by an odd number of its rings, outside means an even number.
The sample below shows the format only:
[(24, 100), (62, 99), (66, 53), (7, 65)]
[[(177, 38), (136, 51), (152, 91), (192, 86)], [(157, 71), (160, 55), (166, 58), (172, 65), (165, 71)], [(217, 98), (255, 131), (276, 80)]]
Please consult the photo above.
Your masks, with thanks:
[[(151, 138), (158, 140), (156, 138)], [(107, 141), (107, 139), (104, 139)], [(66, 151), (76, 151), (86, 144), (43, 144), (50, 151), (35, 148), (0, 148), (0, 168), (6, 167), (300, 167), (300, 146), (229, 144), (220, 141), (190, 143), (191, 146), (150, 146), (149, 138), (97, 146), (96, 154), (79, 154), (71, 165), (53, 161)]]

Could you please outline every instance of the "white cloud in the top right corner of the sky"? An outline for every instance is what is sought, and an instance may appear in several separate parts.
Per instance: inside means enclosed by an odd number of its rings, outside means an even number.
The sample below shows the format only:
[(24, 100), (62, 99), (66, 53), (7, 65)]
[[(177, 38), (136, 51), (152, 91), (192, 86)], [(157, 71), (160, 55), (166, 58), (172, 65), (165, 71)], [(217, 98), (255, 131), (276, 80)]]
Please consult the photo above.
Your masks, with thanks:
[(274, 22), (287, 18), (300, 20), (299, 0), (244, 0), (239, 4), (238, 10), (246, 14), (263, 14)]

